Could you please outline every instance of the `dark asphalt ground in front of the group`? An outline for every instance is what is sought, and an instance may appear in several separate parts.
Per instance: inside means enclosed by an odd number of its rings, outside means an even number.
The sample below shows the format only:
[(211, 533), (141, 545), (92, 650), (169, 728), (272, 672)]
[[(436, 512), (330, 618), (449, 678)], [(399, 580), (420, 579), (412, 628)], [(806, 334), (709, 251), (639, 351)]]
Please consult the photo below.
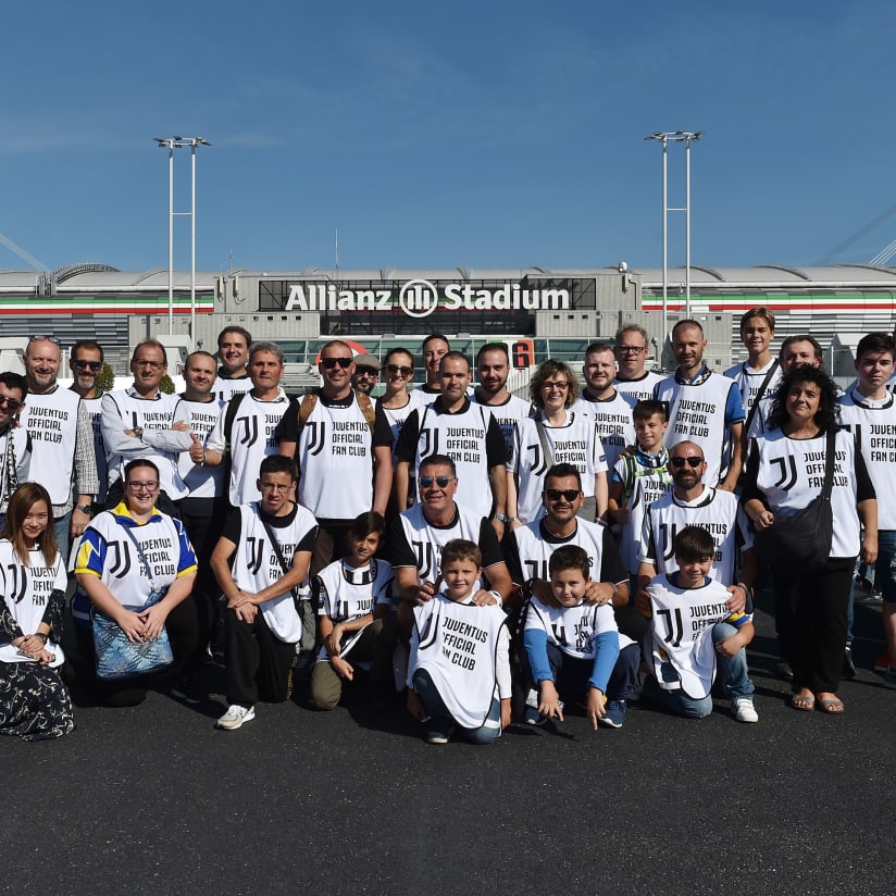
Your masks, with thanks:
[(843, 717), (797, 712), (767, 612), (758, 724), (725, 700), (688, 721), (632, 706), (621, 731), (514, 724), (491, 747), (427, 746), (403, 705), (307, 687), (214, 729), (161, 693), (82, 706), (59, 741), (0, 738), (2, 893), (886, 894), (896, 692), (871, 671), (880, 609), (857, 608)]

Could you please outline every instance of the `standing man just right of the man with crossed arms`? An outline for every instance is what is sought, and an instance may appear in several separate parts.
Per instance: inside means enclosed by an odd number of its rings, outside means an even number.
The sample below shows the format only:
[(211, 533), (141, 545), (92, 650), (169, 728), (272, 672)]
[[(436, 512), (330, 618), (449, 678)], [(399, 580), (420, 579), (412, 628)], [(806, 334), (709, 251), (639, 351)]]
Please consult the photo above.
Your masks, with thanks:
[[(184, 382), (186, 388), (181, 398), (190, 414), (192, 445), (188, 452), (181, 455), (179, 460), (181, 477), (188, 491), (187, 497), (181, 501), (181, 519), (199, 564), (192, 588), (199, 621), (199, 640), (194, 662), (186, 670), (189, 679), (206, 660), (216, 621), (219, 589), (209, 561), (224, 528), (229, 505), (225, 495), (226, 466), (209, 466), (204, 462), (206, 441), (221, 416), (221, 409), (227, 403), (212, 394), (215, 382), (214, 356), (208, 351), (189, 354), (184, 363)], [(197, 696), (179, 689), (172, 694), (189, 702)]]

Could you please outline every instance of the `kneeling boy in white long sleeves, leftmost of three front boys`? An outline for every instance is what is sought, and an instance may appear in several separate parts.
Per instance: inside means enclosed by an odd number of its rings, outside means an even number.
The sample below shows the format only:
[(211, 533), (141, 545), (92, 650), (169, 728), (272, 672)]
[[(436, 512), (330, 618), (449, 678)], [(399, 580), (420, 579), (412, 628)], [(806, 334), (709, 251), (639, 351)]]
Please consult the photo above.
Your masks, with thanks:
[(453, 725), (471, 744), (491, 744), (510, 724), (510, 637), (497, 605), (473, 595), (482, 553), (455, 538), (441, 550), (445, 590), (414, 607), (408, 711), (428, 721), (428, 744), (447, 744)]

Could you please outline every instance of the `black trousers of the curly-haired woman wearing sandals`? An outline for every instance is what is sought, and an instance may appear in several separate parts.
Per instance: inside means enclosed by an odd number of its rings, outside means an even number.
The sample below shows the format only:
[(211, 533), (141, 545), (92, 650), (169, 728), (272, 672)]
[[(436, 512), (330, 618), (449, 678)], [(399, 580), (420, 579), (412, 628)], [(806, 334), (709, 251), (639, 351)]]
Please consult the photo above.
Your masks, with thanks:
[(795, 688), (837, 689), (854, 567), (855, 560), (837, 559), (816, 573), (773, 573), (781, 652), (794, 671)]

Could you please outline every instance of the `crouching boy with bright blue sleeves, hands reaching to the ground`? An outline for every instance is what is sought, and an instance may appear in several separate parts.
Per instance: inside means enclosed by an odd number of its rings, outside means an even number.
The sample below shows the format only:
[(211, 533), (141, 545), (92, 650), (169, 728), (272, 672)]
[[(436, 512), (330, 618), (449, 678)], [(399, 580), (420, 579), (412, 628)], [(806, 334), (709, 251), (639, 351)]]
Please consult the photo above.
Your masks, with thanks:
[(586, 696), (592, 727), (622, 727), (626, 700), (637, 682), (638, 646), (620, 635), (612, 605), (587, 603), (590, 569), (588, 555), (577, 545), (563, 545), (548, 561), (550, 588), (559, 606), (530, 599), (525, 634), (526, 658), (538, 687), (538, 717), (527, 711), (526, 721), (543, 724), (563, 721), (559, 692)]

